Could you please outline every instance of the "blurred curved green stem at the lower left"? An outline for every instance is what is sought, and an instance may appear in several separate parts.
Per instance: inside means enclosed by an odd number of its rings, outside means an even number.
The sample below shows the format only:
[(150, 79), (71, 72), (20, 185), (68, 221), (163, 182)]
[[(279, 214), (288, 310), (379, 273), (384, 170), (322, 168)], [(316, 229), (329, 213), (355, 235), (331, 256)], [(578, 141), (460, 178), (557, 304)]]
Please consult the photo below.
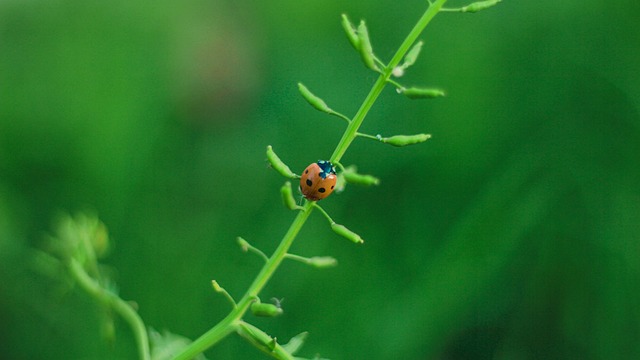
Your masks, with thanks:
[(96, 280), (85, 272), (82, 264), (77, 260), (72, 259), (68, 266), (71, 275), (84, 291), (113, 309), (113, 311), (129, 323), (136, 338), (140, 359), (150, 360), (151, 355), (149, 352), (147, 329), (144, 327), (144, 323), (138, 313), (126, 301), (100, 286)]

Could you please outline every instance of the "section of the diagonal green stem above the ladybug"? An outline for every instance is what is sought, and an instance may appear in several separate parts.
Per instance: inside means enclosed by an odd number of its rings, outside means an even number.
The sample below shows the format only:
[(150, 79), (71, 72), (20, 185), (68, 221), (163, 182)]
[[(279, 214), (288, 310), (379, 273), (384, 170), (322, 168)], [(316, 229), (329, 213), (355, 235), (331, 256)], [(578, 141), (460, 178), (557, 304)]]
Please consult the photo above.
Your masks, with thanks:
[(360, 106), (360, 109), (358, 109), (358, 112), (353, 117), (353, 120), (349, 123), (349, 126), (347, 126), (347, 129), (342, 135), (342, 138), (340, 139), (338, 146), (336, 146), (336, 149), (333, 152), (333, 155), (331, 155), (329, 161), (340, 162), (340, 159), (342, 159), (342, 156), (349, 148), (349, 145), (351, 145), (353, 139), (358, 136), (358, 129), (360, 128), (360, 125), (362, 125), (364, 118), (369, 113), (369, 110), (371, 110), (371, 107), (375, 103), (380, 93), (382, 93), (385, 85), (387, 85), (387, 82), (391, 77), (391, 72), (396, 66), (398, 66), (398, 64), (400, 64), (400, 61), (402, 61), (404, 55), (409, 51), (411, 45), (413, 45), (413, 43), (418, 39), (418, 36), (420, 36), (431, 19), (433, 19), (433, 17), (436, 16), (436, 14), (440, 11), (440, 8), (442, 8), (445, 2), (447, 2), (447, 0), (437, 0), (431, 3), (420, 20), (418, 20), (413, 29), (411, 29), (411, 32), (404, 39), (404, 41), (398, 48), (398, 51), (396, 51), (393, 58), (391, 58), (391, 61), (389, 61), (389, 64), (384, 69), (382, 69), (380, 76), (378, 76), (375, 84), (373, 84), (373, 87), (362, 103), (362, 106)]

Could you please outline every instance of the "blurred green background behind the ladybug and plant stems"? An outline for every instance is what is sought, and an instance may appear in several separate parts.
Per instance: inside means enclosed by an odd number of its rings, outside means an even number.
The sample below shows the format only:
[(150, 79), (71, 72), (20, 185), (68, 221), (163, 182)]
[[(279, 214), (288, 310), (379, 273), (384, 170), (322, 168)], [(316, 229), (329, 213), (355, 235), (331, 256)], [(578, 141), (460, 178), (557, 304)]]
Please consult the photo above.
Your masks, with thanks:
[[(449, 1), (461, 6), (464, 1)], [(97, 214), (105, 264), (148, 326), (194, 339), (239, 298), (294, 214), (265, 147), (300, 171), (328, 158), (375, 76), (339, 23), (364, 18), (389, 59), (426, 1), (0, 1), (0, 357), (129, 359), (135, 345), (79, 290), (30, 265), (60, 212)], [(254, 319), (330, 359), (640, 358), (640, 3), (516, 1), (443, 13), (343, 163), (381, 178), (323, 201)], [(237, 336), (216, 359), (266, 358)]]

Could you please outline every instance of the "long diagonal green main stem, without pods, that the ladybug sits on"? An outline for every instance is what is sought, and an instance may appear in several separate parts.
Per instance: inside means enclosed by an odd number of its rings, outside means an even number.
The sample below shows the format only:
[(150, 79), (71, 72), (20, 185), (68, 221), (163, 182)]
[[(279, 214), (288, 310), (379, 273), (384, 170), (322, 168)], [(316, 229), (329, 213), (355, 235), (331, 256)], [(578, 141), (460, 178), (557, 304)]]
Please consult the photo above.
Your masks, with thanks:
[[(431, 19), (433, 19), (438, 11), (440, 11), (440, 8), (446, 1), (447, 0), (437, 0), (430, 4), (429, 8), (425, 11), (420, 20), (418, 20), (417, 24), (413, 27), (409, 35), (404, 39), (389, 64), (380, 73), (380, 76), (376, 80), (375, 84), (373, 84), (373, 87), (362, 103), (362, 106), (360, 106), (360, 109), (358, 109), (358, 112), (342, 135), (340, 142), (331, 155), (331, 162), (340, 162), (340, 159), (342, 159), (342, 156), (351, 145), (351, 142), (357, 136), (358, 129), (360, 128), (360, 125), (362, 125), (362, 122), (367, 116), (367, 113), (387, 84), (393, 68), (398, 66), (402, 58), (404, 58), (404, 55), (407, 53), (407, 51), (409, 51), (411, 45), (413, 45), (413, 43), (418, 39), (418, 36), (420, 36), (424, 28), (427, 26), (427, 24), (429, 24)], [(258, 296), (269, 279), (271, 279), (271, 276), (273, 276), (276, 269), (285, 258), (287, 251), (289, 251), (289, 248), (291, 247), (291, 244), (293, 244), (296, 235), (298, 235), (298, 232), (300, 231), (300, 229), (302, 229), (302, 226), (309, 218), (312, 210), (313, 203), (307, 201), (303, 207), (303, 210), (300, 211), (296, 218), (293, 220), (293, 223), (289, 227), (289, 230), (282, 238), (280, 245), (278, 245), (273, 255), (271, 255), (269, 260), (262, 267), (262, 270), (260, 270), (260, 273), (258, 274), (258, 276), (256, 276), (256, 279), (253, 281), (251, 286), (249, 286), (249, 289), (244, 294), (242, 299), (240, 299), (237, 306), (217, 325), (215, 325), (213, 328), (211, 328), (209, 331), (207, 331), (193, 343), (191, 343), (191, 345), (185, 348), (181, 354), (176, 356), (175, 360), (191, 359), (194, 356), (205, 351), (209, 347), (213, 346), (230, 333), (236, 331), (242, 317), (244, 316), (251, 303)]]

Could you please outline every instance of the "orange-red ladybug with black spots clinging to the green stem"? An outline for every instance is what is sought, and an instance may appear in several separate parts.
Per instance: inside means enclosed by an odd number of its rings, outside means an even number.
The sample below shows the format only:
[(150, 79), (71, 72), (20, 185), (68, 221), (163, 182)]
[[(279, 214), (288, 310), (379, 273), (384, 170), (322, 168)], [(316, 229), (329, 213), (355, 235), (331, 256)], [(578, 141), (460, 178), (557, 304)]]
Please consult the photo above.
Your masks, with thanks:
[(304, 169), (300, 178), (300, 191), (311, 201), (326, 198), (336, 186), (336, 169), (330, 161), (318, 160)]

